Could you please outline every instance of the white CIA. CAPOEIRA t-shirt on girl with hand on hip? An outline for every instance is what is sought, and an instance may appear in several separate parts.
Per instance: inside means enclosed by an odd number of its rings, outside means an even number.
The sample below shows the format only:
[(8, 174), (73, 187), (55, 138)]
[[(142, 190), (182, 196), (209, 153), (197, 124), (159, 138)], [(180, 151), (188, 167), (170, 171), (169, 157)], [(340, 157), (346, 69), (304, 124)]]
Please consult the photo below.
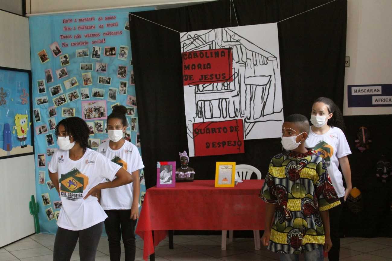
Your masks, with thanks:
[(94, 186), (113, 180), (120, 166), (92, 149), (86, 149), (79, 160), (71, 160), (68, 151), (59, 149), (53, 154), (48, 169), (58, 173), (62, 208), (57, 225), (63, 229), (82, 230), (107, 218), (98, 199), (83, 197)]

